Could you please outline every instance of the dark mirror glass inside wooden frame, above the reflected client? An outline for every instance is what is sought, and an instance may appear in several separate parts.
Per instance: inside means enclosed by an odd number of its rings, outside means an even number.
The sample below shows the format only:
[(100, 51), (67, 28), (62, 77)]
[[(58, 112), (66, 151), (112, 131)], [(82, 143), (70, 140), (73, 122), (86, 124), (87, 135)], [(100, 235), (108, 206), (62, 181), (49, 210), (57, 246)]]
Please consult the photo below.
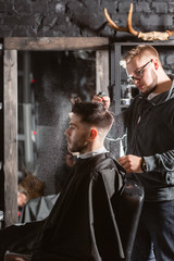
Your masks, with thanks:
[(46, 183), (46, 195), (54, 194), (71, 167), (64, 135), (70, 100), (96, 92), (96, 51), (18, 51), (17, 64), (18, 179), (25, 169)]

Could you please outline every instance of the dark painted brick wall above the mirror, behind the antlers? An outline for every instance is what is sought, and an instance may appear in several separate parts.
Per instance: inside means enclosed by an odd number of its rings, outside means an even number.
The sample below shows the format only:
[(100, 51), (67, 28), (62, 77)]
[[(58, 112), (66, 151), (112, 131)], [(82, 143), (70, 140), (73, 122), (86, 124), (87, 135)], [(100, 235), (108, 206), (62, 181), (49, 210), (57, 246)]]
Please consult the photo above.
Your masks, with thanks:
[(126, 25), (130, 2), (136, 30), (174, 28), (174, 2), (171, 0), (0, 0), (0, 37), (113, 37), (129, 40), (127, 33), (108, 26), (103, 10), (121, 26)]

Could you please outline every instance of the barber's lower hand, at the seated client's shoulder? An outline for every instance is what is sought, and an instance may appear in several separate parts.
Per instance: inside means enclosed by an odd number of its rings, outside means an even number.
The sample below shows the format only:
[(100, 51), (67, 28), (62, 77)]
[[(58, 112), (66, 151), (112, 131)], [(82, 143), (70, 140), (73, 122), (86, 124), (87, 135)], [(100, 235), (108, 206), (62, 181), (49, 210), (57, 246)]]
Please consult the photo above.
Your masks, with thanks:
[(127, 174), (142, 173), (141, 161), (142, 159), (137, 156), (127, 154), (117, 159), (119, 163), (124, 167)]

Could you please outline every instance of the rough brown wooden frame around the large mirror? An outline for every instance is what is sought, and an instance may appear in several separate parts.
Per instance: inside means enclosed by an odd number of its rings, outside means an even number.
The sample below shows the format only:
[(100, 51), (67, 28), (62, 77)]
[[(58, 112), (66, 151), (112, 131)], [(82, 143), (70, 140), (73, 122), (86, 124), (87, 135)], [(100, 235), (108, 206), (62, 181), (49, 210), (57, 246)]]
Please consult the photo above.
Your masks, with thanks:
[(3, 44), (4, 226), (17, 219), (17, 51), (96, 50), (96, 91), (108, 92), (109, 38), (8, 37)]

